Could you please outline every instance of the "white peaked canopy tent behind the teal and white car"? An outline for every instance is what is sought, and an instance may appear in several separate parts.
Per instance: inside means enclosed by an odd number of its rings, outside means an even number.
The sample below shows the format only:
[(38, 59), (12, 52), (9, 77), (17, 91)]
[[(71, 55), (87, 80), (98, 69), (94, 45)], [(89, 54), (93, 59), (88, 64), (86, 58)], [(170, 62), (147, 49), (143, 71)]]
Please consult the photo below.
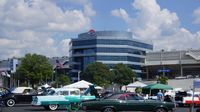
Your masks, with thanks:
[[(93, 84), (90, 83), (90, 82), (87, 82), (87, 81), (85, 81), (85, 80), (81, 80), (81, 81), (75, 82), (75, 83), (73, 83), (73, 84), (66, 85), (66, 86), (64, 86), (63, 88), (87, 89), (87, 88), (89, 88), (90, 85), (93, 85)], [(96, 88), (96, 89), (103, 89), (103, 88), (100, 87), (100, 86), (96, 86), (95, 88)]]

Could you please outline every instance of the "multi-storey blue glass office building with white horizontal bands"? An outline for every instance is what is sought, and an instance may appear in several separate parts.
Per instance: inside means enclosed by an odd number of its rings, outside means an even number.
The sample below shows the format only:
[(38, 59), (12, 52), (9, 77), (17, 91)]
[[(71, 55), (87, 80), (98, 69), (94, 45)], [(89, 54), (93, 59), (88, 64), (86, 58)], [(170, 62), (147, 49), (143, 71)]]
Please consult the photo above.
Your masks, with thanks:
[(71, 42), (72, 69), (74, 72), (83, 71), (89, 63), (98, 61), (110, 68), (118, 63), (123, 63), (141, 74), (146, 51), (152, 49), (152, 44), (133, 39), (131, 32), (82, 33)]

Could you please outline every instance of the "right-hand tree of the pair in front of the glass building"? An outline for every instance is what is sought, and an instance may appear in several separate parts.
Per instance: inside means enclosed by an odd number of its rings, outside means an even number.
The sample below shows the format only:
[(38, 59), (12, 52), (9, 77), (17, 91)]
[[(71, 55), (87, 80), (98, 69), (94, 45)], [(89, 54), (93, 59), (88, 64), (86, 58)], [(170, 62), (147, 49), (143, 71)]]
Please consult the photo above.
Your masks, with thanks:
[(113, 82), (119, 85), (127, 85), (133, 81), (135, 72), (124, 64), (117, 64), (113, 69)]

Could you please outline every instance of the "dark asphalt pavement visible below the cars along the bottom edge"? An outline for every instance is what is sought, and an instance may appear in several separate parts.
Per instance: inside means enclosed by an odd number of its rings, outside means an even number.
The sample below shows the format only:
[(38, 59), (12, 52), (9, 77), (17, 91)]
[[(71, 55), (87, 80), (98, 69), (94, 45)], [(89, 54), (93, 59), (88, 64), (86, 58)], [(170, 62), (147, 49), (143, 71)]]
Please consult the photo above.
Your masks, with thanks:
[[(0, 112), (52, 112), (52, 111), (46, 111), (43, 107), (33, 107), (27, 104), (17, 104), (14, 107), (3, 107), (2, 111)], [(67, 112), (67, 110), (62, 109), (53, 112)], [(78, 112), (84, 112), (84, 111), (78, 111)], [(177, 108), (176, 112), (189, 112), (189, 108)]]

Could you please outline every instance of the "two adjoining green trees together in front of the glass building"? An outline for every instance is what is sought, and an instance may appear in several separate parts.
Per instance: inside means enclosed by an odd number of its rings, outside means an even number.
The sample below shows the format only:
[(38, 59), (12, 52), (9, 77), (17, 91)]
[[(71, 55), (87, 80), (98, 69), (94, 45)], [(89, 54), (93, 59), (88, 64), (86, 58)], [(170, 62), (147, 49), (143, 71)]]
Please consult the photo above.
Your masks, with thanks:
[(95, 62), (88, 65), (82, 79), (99, 86), (108, 86), (112, 83), (127, 85), (133, 81), (135, 75), (135, 72), (124, 64), (117, 64), (110, 70), (105, 64)]

